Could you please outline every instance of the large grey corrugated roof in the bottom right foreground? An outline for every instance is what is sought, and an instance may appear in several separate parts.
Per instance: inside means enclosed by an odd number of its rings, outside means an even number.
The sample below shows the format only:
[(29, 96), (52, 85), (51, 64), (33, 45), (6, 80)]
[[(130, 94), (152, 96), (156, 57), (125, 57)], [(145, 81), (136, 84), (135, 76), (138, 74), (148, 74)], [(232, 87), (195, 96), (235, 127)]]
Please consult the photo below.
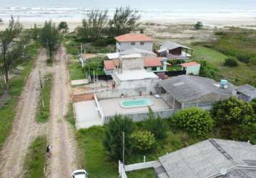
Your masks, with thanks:
[[(256, 147), (248, 142), (210, 139), (159, 157), (162, 177), (255, 177)], [(226, 176), (220, 170), (227, 169)], [(165, 171), (165, 172), (164, 172)]]

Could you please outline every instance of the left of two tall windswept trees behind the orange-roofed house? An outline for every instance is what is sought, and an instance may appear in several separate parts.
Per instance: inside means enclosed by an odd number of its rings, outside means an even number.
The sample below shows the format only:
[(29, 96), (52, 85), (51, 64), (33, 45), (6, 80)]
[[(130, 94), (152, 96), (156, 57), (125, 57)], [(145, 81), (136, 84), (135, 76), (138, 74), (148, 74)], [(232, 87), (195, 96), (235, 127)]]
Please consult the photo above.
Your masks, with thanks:
[(82, 27), (78, 33), (84, 39), (95, 41), (102, 38), (104, 28), (109, 20), (108, 11), (92, 10), (87, 14), (87, 19), (82, 20)]

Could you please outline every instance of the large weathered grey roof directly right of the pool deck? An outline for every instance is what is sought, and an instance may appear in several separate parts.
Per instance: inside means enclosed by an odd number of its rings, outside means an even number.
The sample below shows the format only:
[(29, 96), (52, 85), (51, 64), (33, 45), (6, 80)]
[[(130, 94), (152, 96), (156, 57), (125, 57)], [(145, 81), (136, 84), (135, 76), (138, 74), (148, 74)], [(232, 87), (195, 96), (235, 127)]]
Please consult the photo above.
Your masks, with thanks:
[(179, 75), (159, 81), (159, 85), (171, 93), (180, 103), (196, 100), (204, 95), (216, 93), (232, 96), (235, 85), (228, 84), (227, 89), (220, 88), (220, 83), (210, 78), (195, 75)]

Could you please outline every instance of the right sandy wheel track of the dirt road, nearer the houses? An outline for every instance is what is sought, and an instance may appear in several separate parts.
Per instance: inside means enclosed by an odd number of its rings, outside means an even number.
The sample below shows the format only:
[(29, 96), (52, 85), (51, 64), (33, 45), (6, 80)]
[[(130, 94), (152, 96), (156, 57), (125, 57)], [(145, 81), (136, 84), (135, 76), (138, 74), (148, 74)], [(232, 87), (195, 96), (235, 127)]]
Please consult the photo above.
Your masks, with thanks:
[(47, 161), (46, 177), (71, 177), (76, 168), (74, 132), (64, 120), (69, 105), (69, 78), (67, 52), (60, 47), (56, 53), (51, 90), (51, 120), (49, 121), (49, 143), (53, 146), (52, 157)]

